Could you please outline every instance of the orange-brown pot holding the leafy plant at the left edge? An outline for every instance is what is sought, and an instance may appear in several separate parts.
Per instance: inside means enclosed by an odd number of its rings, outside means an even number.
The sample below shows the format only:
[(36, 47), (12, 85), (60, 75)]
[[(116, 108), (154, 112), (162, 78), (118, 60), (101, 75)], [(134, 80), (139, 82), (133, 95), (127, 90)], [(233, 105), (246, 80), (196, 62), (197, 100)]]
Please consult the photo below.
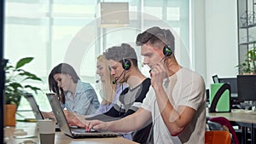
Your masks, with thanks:
[(4, 126), (15, 126), (16, 107), (17, 106), (15, 104), (4, 105)]

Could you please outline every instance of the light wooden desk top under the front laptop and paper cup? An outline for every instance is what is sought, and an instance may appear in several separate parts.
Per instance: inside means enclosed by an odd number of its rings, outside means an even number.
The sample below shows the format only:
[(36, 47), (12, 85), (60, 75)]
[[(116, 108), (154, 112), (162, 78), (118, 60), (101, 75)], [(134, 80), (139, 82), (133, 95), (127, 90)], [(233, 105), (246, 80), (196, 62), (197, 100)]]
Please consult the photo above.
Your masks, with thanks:
[[(22, 138), (18, 139), (14, 136), (15, 129), (23, 129), (27, 132), (27, 135), (36, 135), (35, 137), (31, 138)], [(32, 140), (37, 142), (37, 144), (40, 143), (39, 136), (38, 136), (38, 127), (36, 123), (17, 123), (16, 127), (6, 127), (4, 128), (4, 140), (7, 142), (7, 144), (19, 144), (22, 141), (25, 140)], [(55, 132), (55, 144), (84, 144), (84, 143), (90, 143), (90, 144), (136, 144), (134, 141), (126, 140), (122, 137), (111, 137), (111, 138), (84, 138), (84, 139), (73, 139), (67, 135), (64, 135), (61, 132)]]

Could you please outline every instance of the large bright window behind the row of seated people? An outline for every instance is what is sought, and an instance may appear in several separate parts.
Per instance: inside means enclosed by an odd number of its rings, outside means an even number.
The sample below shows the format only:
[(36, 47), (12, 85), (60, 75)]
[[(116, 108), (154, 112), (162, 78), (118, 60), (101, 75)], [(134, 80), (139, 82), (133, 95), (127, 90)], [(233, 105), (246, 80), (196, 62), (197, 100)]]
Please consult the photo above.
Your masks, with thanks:
[[(48, 92), (48, 74), (61, 62), (73, 65), (82, 81), (96, 86), (96, 56), (110, 46), (131, 43), (139, 32), (151, 26), (176, 30), (182, 37), (182, 49), (189, 54), (189, 1), (179, 0), (119, 0), (104, 2), (128, 2), (130, 24), (125, 27), (102, 28), (96, 25), (98, 1), (61, 0), (7, 0), (5, 7), (4, 58), (15, 62), (32, 56), (32, 65), (26, 68), (44, 79), (39, 86)], [(137, 56), (143, 73), (140, 49)], [(177, 60), (187, 65), (181, 49), (176, 50)], [(188, 55), (189, 56), (189, 55)], [(189, 63), (188, 63), (189, 64)], [(45, 94), (36, 95), (39, 107), (50, 111)], [(25, 100), (19, 110), (31, 109)]]

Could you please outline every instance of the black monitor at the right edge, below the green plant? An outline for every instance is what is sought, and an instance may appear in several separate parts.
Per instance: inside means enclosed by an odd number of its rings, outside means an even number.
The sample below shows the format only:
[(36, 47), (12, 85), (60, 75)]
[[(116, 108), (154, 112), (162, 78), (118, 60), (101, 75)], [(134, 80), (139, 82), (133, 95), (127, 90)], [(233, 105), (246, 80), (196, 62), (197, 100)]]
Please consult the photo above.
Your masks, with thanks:
[(237, 75), (238, 101), (256, 101), (256, 75)]

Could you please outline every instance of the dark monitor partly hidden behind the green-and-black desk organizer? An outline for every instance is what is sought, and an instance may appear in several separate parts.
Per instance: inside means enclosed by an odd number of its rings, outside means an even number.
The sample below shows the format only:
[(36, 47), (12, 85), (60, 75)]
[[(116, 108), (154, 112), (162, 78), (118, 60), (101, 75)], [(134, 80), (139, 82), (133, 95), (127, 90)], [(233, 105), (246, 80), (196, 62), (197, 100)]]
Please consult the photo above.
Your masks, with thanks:
[(237, 78), (218, 78), (219, 83), (230, 84), (231, 96), (237, 97)]

